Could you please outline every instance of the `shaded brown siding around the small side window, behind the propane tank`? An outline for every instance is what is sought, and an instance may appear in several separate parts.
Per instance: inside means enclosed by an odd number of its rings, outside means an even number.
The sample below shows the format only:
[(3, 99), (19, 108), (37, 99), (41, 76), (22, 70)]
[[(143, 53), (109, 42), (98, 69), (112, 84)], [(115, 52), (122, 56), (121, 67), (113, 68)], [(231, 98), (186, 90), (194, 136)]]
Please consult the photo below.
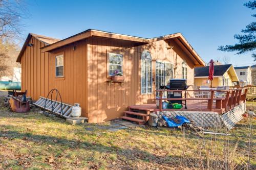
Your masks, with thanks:
[[(64, 103), (79, 103), (82, 115), (88, 117), (87, 106), (87, 45), (81, 40), (50, 53), (49, 89), (56, 88)], [(64, 56), (64, 76), (56, 77), (55, 57)]]

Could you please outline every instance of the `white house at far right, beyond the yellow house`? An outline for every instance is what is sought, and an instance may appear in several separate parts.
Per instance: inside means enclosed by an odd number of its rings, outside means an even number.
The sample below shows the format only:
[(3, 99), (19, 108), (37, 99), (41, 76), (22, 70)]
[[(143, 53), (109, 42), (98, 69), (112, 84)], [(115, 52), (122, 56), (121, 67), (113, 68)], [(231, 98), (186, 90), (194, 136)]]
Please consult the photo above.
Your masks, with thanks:
[[(251, 85), (251, 66), (234, 67), (237, 72), (239, 82), (243, 82), (243, 86)], [(240, 83), (241, 84), (241, 83)]]

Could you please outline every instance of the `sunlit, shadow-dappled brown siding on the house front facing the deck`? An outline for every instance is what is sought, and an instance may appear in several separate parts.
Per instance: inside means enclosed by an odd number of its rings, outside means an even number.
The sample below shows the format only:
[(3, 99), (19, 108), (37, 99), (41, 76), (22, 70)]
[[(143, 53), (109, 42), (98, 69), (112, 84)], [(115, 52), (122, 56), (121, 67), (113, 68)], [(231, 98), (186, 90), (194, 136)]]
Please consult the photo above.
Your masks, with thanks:
[[(187, 62), (187, 84), (194, 84), (193, 61), (173, 41), (173, 49), (167, 49), (164, 40), (145, 45), (132, 42), (93, 37), (88, 39), (88, 113), (89, 122), (104, 122), (122, 116), (127, 106), (154, 103), (155, 85), (151, 94), (141, 94), (141, 54), (144, 50), (152, 55), (152, 73), (155, 79), (156, 61), (177, 63), (174, 78), (181, 78), (181, 64)], [(108, 53), (123, 56), (123, 84), (106, 82)]]

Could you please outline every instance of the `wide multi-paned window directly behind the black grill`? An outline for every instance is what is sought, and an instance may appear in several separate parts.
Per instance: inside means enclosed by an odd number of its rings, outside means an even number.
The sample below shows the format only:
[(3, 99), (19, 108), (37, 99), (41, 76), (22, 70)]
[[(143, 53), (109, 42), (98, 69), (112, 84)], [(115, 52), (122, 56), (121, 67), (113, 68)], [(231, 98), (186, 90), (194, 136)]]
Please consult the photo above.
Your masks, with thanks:
[(160, 89), (160, 86), (168, 85), (172, 78), (173, 64), (156, 61), (156, 89)]

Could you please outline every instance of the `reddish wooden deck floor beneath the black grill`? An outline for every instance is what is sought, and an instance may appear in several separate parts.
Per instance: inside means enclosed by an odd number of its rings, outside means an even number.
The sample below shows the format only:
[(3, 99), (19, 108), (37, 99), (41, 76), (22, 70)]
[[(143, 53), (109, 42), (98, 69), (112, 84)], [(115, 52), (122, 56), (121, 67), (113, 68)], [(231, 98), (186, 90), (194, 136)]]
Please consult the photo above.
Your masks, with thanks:
[[(185, 105), (183, 105), (182, 109), (163, 109), (163, 111), (209, 111), (207, 109), (207, 101), (187, 101), (187, 109), (185, 109)], [(216, 103), (214, 102), (214, 108)], [(138, 110), (148, 110), (148, 111), (159, 111), (157, 108), (156, 104), (144, 104), (144, 105), (133, 105), (130, 106), (133, 109), (138, 109)], [(218, 112), (219, 114), (222, 114), (225, 112), (225, 109), (214, 109), (212, 112)]]

